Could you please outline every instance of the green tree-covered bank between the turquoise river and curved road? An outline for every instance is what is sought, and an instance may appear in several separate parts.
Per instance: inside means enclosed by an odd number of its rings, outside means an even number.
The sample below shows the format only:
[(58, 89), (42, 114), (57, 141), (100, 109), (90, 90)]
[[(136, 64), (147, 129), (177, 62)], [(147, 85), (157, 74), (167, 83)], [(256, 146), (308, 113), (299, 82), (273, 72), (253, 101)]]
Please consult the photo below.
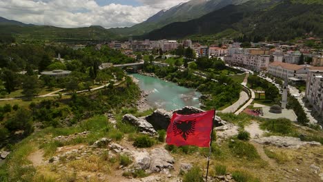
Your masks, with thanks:
[[(220, 72), (231, 70), (219, 59), (197, 59), (196, 68), (181, 69), (170, 65), (168, 67), (159, 67), (150, 63), (145, 63), (144, 71), (155, 73), (157, 77), (166, 79), (186, 88), (195, 88), (202, 92), (201, 98), (204, 106), (202, 108), (210, 110), (213, 108), (222, 108), (224, 105), (233, 104), (239, 99), (239, 93), (242, 86), (226, 77)], [(196, 71), (212, 70), (206, 78)], [(234, 71), (234, 70), (232, 70)], [(217, 74), (215, 74), (217, 73)], [(216, 80), (216, 81), (215, 81)]]

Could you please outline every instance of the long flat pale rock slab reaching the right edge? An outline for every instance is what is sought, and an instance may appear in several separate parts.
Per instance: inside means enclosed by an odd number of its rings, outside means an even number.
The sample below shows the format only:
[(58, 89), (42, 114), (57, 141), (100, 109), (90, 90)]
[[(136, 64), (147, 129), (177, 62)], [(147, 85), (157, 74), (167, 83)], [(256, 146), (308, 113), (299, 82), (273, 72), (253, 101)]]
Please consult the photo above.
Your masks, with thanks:
[(300, 148), (304, 145), (311, 145), (311, 146), (320, 146), (321, 143), (316, 141), (301, 141), (298, 138), (289, 137), (289, 136), (269, 136), (269, 137), (262, 137), (260, 139), (253, 139), (260, 144), (264, 145), (275, 145), (279, 148)]

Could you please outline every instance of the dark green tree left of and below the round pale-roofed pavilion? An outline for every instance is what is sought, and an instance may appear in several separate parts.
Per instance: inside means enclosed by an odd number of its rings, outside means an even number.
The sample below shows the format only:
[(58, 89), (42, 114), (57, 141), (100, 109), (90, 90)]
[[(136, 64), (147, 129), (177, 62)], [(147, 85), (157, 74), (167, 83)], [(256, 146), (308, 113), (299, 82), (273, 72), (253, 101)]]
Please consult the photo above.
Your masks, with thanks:
[(37, 76), (27, 76), (23, 79), (23, 95), (31, 99), (39, 93), (39, 82)]

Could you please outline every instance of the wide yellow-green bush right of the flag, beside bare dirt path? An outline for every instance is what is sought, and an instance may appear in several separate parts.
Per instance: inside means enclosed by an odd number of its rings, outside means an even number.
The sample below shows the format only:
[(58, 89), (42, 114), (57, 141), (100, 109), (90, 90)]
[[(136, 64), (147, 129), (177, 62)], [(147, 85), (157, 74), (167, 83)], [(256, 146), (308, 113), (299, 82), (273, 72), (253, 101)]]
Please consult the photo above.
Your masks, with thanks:
[(247, 160), (259, 159), (260, 156), (253, 145), (245, 141), (231, 140), (228, 147), (235, 156), (245, 158)]

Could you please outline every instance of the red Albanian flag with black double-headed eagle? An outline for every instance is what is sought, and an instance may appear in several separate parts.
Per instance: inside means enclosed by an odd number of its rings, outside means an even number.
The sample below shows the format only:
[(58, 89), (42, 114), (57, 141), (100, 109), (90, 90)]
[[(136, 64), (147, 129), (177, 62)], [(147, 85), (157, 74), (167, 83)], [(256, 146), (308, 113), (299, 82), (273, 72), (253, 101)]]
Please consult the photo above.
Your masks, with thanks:
[(181, 115), (174, 113), (167, 129), (168, 145), (210, 147), (215, 111)]

